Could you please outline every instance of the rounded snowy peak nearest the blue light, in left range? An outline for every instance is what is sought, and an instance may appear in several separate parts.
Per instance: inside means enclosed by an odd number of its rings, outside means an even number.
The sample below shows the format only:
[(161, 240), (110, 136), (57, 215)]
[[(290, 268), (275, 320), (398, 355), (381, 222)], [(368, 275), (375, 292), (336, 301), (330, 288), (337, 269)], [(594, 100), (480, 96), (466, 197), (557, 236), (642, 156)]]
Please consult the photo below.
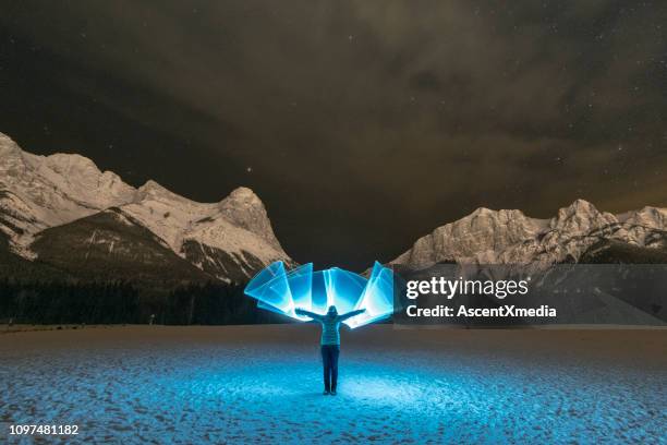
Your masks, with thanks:
[(178, 255), (222, 280), (239, 281), (277, 260), (291, 262), (274, 234), (264, 204), (246, 188), (219, 203), (179, 196), (155, 181), (121, 207)]

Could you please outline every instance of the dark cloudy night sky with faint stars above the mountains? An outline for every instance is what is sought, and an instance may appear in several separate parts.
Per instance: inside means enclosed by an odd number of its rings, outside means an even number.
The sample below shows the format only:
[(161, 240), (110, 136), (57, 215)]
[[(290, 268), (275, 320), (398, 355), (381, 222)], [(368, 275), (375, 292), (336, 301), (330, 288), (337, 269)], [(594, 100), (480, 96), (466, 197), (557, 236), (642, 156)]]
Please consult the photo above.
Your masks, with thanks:
[(0, 1), (0, 131), (141, 185), (246, 185), (363, 269), (476, 207), (667, 206), (667, 2)]

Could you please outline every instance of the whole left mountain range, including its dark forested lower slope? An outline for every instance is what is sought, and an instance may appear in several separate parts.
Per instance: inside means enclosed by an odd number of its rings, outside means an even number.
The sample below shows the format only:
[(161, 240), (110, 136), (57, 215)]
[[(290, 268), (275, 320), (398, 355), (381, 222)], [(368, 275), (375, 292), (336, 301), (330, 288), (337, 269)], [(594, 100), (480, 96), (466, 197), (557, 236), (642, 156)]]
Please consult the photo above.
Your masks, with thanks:
[(135, 189), (80, 155), (33, 155), (0, 133), (2, 245), (4, 263), (87, 279), (243, 282), (292, 263), (250, 189), (197, 203), (155, 181)]

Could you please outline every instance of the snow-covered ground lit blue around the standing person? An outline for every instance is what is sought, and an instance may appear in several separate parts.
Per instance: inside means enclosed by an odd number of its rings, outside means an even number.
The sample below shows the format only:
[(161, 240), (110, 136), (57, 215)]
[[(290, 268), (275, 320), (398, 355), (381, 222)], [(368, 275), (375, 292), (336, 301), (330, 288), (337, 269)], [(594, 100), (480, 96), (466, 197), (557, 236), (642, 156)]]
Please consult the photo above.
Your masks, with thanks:
[(0, 443), (10, 423), (119, 444), (667, 441), (667, 330), (376, 325), (342, 340), (325, 397), (312, 325), (0, 335)]

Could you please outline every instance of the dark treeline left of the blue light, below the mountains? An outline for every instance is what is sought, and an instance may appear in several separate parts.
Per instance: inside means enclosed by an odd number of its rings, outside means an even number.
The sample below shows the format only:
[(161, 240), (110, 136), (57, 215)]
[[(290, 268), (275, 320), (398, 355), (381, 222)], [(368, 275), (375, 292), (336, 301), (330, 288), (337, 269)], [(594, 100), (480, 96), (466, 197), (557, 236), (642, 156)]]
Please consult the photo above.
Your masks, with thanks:
[(259, 311), (243, 286), (193, 284), (150, 292), (125, 281), (24, 282), (0, 279), (0, 322), (15, 324), (255, 324), (283, 320)]

